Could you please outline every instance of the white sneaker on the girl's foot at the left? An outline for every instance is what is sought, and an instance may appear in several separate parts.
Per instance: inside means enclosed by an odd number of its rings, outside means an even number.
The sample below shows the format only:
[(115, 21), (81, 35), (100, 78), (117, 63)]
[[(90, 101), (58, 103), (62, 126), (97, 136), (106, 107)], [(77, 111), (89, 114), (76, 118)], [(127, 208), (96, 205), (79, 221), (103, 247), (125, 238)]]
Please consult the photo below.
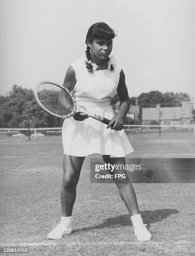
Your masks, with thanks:
[(71, 223), (67, 223), (67, 224), (60, 223), (55, 227), (53, 227), (53, 230), (50, 233), (48, 233), (47, 238), (59, 239), (59, 238), (63, 238), (63, 236), (66, 234), (71, 234), (71, 232), (72, 232)]

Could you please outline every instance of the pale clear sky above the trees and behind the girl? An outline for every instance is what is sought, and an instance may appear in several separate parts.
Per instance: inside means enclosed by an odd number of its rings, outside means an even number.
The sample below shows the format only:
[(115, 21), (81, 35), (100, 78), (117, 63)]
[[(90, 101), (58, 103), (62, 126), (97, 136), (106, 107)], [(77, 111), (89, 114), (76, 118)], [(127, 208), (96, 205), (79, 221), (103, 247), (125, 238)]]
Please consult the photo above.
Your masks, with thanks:
[(62, 84), (99, 21), (117, 31), (112, 54), (130, 97), (151, 90), (195, 97), (194, 0), (0, 0), (0, 95), (13, 84)]

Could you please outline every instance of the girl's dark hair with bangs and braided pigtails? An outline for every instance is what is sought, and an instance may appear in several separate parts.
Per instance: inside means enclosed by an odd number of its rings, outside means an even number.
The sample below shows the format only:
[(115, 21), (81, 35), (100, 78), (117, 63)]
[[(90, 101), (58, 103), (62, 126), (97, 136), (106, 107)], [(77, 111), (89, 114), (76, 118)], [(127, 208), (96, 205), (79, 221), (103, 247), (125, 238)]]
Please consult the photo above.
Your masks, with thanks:
[[(107, 40), (113, 39), (116, 36), (114, 33), (114, 30), (110, 28), (106, 23), (104, 22), (98, 22), (93, 24), (86, 35), (86, 45), (87, 45), (87, 40), (90, 42), (93, 42), (95, 38), (106, 38)], [(86, 53), (86, 58), (90, 63), (86, 62), (86, 68), (88, 69), (88, 72), (93, 73), (93, 66), (91, 64), (91, 51), (90, 47), (87, 45), (87, 49), (85, 51)], [(109, 61), (109, 57), (107, 61)], [(111, 71), (114, 70), (114, 67), (111, 65), (110, 67)]]

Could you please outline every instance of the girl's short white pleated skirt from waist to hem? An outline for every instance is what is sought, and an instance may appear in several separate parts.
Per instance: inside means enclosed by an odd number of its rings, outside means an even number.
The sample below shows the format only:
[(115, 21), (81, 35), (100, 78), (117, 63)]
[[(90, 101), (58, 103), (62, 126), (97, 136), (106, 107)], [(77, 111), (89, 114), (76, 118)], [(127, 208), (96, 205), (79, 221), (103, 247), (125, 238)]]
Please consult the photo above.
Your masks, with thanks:
[[(109, 102), (82, 102), (87, 110), (104, 118), (112, 119), (114, 111)], [(76, 121), (73, 117), (63, 122), (62, 142), (64, 154), (70, 156), (89, 156), (91, 154), (124, 157), (134, 150), (124, 130), (106, 129), (107, 125), (93, 118)]]

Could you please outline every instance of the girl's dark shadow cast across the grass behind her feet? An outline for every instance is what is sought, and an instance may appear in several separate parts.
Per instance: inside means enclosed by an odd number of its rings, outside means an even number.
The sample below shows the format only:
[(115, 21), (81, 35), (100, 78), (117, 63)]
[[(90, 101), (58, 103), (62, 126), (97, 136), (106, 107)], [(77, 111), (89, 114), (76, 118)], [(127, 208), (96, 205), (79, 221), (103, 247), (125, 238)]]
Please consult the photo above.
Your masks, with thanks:
[[(162, 210), (154, 210), (154, 211), (141, 211), (142, 219), (144, 224), (147, 224), (147, 228), (150, 228), (150, 223), (158, 222), (163, 219), (166, 219), (172, 214), (178, 213), (178, 210), (175, 209), (162, 209)], [(89, 228), (80, 228), (73, 230), (73, 233), (79, 231), (87, 231), (93, 229), (101, 229), (101, 228), (116, 228), (117, 226), (132, 226), (132, 221), (130, 219), (129, 214), (119, 215), (114, 218), (106, 219), (100, 225), (96, 225)]]

